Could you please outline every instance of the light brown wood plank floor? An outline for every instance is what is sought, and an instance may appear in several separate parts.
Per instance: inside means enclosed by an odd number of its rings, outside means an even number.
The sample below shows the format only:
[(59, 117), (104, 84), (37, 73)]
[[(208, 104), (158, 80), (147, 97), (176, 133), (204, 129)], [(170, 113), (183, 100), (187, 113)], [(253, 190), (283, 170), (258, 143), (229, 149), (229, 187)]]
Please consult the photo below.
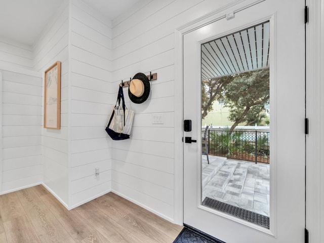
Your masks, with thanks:
[(42, 185), (0, 196), (0, 242), (168, 243), (182, 227), (109, 192), (73, 210)]

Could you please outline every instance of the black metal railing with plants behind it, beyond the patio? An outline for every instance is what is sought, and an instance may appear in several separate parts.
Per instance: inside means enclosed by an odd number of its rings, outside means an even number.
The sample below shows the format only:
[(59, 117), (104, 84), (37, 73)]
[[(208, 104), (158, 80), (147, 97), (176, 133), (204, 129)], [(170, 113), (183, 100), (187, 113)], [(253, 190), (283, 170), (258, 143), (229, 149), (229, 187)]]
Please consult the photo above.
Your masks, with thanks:
[[(204, 137), (205, 129), (202, 131)], [(270, 163), (270, 131), (258, 129), (209, 129), (207, 135), (210, 155)]]

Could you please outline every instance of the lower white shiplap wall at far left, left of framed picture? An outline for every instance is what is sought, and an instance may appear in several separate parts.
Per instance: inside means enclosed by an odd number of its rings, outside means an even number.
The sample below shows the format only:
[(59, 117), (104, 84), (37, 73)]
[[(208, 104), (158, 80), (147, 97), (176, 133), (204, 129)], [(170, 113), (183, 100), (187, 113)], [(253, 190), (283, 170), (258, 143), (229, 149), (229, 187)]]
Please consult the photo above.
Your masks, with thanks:
[(42, 77), (2, 71), (2, 193), (42, 182)]

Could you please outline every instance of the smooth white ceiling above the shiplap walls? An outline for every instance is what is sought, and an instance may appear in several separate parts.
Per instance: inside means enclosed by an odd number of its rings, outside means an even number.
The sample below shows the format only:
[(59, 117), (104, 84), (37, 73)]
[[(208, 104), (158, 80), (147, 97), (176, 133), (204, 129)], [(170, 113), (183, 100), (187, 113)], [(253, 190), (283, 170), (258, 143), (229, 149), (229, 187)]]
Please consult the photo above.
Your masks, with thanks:
[[(140, 0), (83, 1), (113, 20)], [(33, 45), (62, 2), (63, 0), (0, 0), (0, 37)]]

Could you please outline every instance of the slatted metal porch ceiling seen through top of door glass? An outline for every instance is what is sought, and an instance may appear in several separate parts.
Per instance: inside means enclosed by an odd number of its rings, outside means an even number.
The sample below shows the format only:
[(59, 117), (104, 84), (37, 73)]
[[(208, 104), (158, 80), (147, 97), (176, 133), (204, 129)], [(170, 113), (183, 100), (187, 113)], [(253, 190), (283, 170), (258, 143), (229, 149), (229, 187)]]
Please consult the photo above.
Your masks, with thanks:
[(269, 21), (201, 45), (201, 79), (269, 66)]

